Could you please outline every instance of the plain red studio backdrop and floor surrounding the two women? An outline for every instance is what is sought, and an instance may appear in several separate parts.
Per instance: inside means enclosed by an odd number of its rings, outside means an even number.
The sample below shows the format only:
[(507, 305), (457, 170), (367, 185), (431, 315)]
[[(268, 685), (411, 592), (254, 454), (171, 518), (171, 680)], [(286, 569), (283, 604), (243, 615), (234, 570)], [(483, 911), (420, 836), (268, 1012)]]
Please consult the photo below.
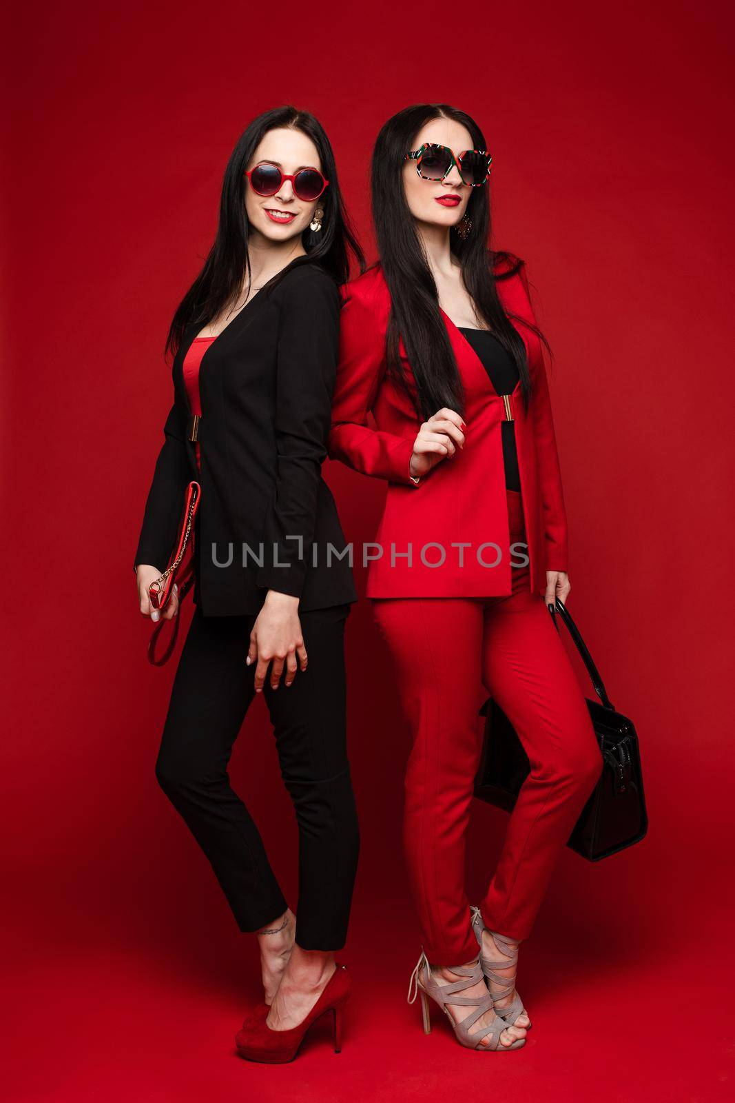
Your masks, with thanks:
[[(523, 1103), (732, 1097), (729, 6), (105, 7), (17, 4), (6, 28), (7, 1097), (439, 1099), (485, 1078)], [(316, 1037), (279, 1072), (234, 1056), (255, 946), (154, 779), (174, 664), (145, 662), (131, 559), (166, 326), (238, 135), (279, 103), (314, 111), (371, 258), (371, 144), (419, 99), (472, 113), (494, 153), (495, 244), (527, 259), (555, 353), (570, 608), (638, 727), (651, 826), (596, 866), (563, 855), (521, 954), (521, 1053), (480, 1059), (439, 1022), (424, 1038), (403, 1002), (420, 949), (408, 736), (361, 602), (356, 996), (342, 1057)], [(348, 536), (370, 539), (381, 485), (336, 464), (327, 479)], [(262, 705), (233, 777), (293, 899)], [(502, 827), (477, 807), (474, 891)]]

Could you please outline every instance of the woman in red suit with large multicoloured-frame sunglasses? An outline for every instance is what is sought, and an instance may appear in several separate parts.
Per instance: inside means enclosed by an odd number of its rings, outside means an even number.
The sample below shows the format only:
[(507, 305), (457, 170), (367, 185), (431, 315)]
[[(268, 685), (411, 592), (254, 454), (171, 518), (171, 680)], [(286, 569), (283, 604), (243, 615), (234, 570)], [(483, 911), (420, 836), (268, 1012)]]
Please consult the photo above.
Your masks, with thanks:
[[(388, 482), (367, 595), (412, 731), (403, 837), (422, 954), (410, 999), (421, 994), (424, 1029), (431, 997), (485, 1052), (525, 1043), (518, 944), (602, 769), (545, 608), (570, 591), (564, 500), (525, 266), (488, 250), (489, 169), (478, 126), (446, 105), (409, 107), (380, 131), (380, 260), (342, 292), (328, 441)], [(483, 686), (531, 772), (471, 909)]]

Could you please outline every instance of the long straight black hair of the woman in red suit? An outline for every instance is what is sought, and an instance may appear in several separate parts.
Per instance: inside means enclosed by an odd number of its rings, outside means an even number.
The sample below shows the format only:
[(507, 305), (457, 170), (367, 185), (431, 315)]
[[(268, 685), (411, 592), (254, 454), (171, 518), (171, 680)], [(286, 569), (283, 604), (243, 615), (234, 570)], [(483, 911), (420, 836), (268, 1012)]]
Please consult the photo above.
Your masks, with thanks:
[[(428, 419), (443, 406), (464, 414), (464, 394), (454, 351), (439, 309), (436, 283), (426, 261), (421, 240), (403, 191), (404, 154), (414, 149), (414, 139), (432, 119), (453, 119), (466, 127), (474, 149), (487, 149), (485, 137), (475, 120), (447, 104), (414, 104), (388, 119), (372, 151), (372, 221), (382, 274), (391, 298), (386, 335), (387, 371), (409, 395), (417, 414)], [(479, 318), (512, 356), (520, 376), (523, 403), (528, 409), (531, 376), (526, 345), (498, 298), (496, 279), (510, 279), (522, 260), (512, 254), (494, 253), (490, 240), (489, 188), (473, 188), (466, 208), (472, 228), (466, 239), (451, 232), (451, 248), (462, 265), (462, 278)], [(494, 266), (502, 263), (502, 275)], [(543, 341), (538, 326), (522, 320)], [(399, 336), (403, 339), (415, 387), (401, 368)]]

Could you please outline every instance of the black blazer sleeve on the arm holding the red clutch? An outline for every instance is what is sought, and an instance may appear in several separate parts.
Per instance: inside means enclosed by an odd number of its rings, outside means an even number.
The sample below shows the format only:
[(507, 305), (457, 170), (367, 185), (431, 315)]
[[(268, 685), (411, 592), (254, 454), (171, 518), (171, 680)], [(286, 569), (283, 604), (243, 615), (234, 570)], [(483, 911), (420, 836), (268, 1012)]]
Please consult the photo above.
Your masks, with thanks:
[(163, 572), (179, 535), (184, 492), (191, 480), (181, 410), (174, 403), (163, 426), (164, 441), (148, 492), (134, 566), (147, 563)]

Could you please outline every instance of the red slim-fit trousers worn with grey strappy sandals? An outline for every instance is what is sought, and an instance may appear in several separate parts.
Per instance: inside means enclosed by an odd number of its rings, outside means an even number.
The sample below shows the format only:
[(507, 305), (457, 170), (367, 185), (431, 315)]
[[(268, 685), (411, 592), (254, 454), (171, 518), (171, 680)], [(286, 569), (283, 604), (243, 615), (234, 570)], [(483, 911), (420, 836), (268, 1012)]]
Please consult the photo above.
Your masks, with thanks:
[[(507, 496), (511, 540), (522, 542), (520, 493)], [(512, 722), (531, 764), (479, 901), (490, 930), (528, 938), (602, 770), (582, 689), (543, 597), (531, 591), (528, 567), (512, 575), (507, 597), (372, 599), (411, 726), (403, 844), (423, 949), (435, 965), (477, 955), (465, 842), (482, 751), (482, 686)]]

